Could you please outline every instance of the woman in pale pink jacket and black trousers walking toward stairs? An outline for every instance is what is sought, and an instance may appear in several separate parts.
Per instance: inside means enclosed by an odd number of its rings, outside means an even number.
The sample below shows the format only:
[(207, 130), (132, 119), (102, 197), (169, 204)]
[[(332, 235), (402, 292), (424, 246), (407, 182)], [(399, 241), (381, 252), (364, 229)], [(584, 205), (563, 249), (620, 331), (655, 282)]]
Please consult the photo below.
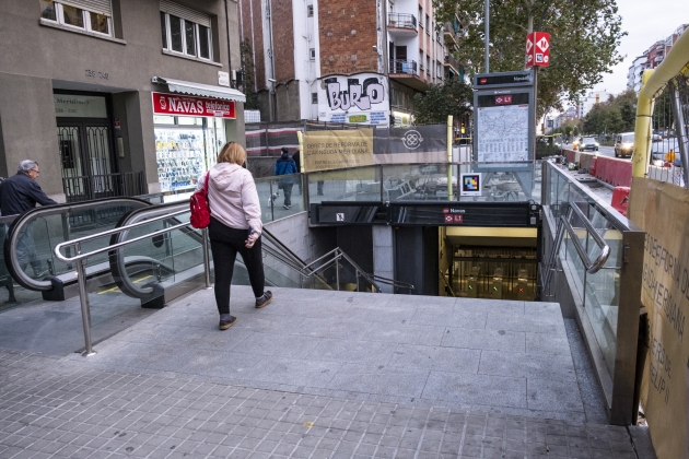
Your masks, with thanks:
[(266, 278), (260, 239), (264, 225), (254, 177), (242, 167), (245, 161), (246, 152), (242, 145), (225, 143), (208, 180), (211, 210), (208, 228), (215, 267), (215, 303), (221, 330), (237, 322), (237, 318), (230, 315), (230, 284), (237, 252), (242, 255), (248, 271), (256, 307), (261, 308), (272, 299), (270, 291), (264, 292)]

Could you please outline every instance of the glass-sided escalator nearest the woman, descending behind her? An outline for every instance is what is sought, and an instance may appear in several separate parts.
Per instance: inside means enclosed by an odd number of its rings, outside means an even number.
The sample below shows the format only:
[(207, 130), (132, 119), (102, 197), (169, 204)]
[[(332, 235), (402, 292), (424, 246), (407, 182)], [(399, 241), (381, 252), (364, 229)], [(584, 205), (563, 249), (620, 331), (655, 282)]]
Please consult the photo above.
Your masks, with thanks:
[[(188, 221), (186, 202), (137, 209), (124, 215), (117, 225), (137, 226), (114, 234), (109, 244), (110, 246), (125, 244)], [(261, 237), (267, 286), (379, 292), (377, 283), (392, 282), (365, 273), (339, 249), (306, 263), (266, 227)], [(212, 275), (213, 260), (210, 250), (209, 258)], [(144, 262), (135, 263), (136, 259), (148, 260), (148, 267)], [(144, 237), (110, 250), (109, 263), (113, 281), (119, 291), (140, 298), (143, 306), (162, 307), (176, 297), (205, 285), (203, 232), (182, 226), (151, 238)], [(143, 271), (151, 275), (142, 281)], [(236, 258), (232, 283), (249, 284), (242, 257)]]

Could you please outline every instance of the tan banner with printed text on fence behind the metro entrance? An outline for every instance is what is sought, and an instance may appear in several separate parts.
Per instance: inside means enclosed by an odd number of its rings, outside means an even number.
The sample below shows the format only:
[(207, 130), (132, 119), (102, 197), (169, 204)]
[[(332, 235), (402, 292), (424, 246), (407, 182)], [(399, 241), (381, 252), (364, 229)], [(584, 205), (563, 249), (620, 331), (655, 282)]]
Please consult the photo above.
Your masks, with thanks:
[(304, 132), (304, 172), (373, 164), (373, 129)]

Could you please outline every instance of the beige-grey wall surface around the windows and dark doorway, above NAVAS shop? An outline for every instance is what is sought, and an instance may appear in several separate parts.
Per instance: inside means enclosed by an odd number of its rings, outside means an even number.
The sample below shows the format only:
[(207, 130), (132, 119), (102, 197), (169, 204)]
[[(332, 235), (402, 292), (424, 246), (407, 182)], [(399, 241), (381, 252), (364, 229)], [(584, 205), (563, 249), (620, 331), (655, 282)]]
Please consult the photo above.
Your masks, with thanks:
[[(156, 191), (151, 92), (165, 92), (166, 86), (153, 84), (151, 79), (167, 76), (218, 85), (218, 71), (232, 70), (225, 2), (177, 2), (211, 16), (214, 62), (163, 52), (159, 0), (114, 1), (118, 36), (113, 38), (47, 25), (39, 21), (38, 1), (0, 2), (0, 172), (12, 173), (19, 160), (31, 156), (40, 163), (39, 184), (44, 190), (61, 197), (52, 90), (97, 92), (114, 94), (113, 115), (121, 123), (115, 137), (121, 137), (125, 144), (125, 157), (116, 160), (119, 169), (144, 170), (149, 190)], [(232, 1), (229, 10), (230, 26), (234, 27), (230, 34), (232, 62), (238, 67), (237, 17)], [(242, 117), (237, 109), (237, 118)], [(243, 121), (235, 122), (235, 134), (243, 137)]]

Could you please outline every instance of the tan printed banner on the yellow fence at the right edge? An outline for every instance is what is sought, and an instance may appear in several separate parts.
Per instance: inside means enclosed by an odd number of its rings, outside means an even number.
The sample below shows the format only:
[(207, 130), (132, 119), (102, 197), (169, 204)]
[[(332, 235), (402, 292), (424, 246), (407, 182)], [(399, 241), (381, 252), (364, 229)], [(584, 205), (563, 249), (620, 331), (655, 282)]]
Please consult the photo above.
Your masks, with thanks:
[(649, 314), (649, 353), (641, 404), (658, 459), (689, 459), (689, 190), (634, 177), (628, 216), (646, 232), (641, 303)]

